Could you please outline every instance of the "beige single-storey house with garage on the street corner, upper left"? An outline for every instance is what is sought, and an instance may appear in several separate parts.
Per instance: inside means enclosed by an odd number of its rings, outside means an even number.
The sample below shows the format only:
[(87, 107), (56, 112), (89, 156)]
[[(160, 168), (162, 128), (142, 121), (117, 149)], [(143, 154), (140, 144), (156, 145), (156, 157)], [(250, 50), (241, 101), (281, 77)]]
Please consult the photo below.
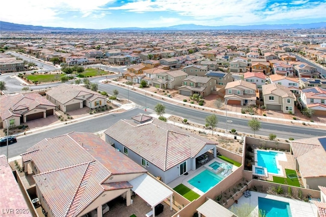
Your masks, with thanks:
[(63, 112), (83, 108), (98, 108), (106, 105), (106, 96), (83, 86), (61, 84), (45, 93), (46, 99), (58, 106)]

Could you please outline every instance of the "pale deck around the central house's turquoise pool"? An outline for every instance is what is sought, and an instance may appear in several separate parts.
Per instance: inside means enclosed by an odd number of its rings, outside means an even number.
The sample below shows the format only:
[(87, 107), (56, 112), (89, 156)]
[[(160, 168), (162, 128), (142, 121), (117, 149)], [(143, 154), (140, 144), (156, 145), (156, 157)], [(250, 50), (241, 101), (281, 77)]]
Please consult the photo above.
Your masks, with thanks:
[[(225, 161), (223, 161), (222, 159), (219, 159), (219, 158), (215, 158), (215, 159), (212, 159), (211, 161), (207, 162), (206, 164), (204, 165), (210, 165), (211, 163), (215, 162), (215, 161), (218, 161), (218, 162), (222, 162), (224, 163)], [(227, 163), (227, 162), (225, 162)], [(229, 163), (227, 163), (229, 164)], [(193, 190), (194, 192), (196, 192), (197, 194), (199, 194), (200, 196), (202, 196), (203, 194), (205, 194), (204, 192), (200, 191), (199, 189), (197, 189), (196, 187), (194, 187), (193, 185), (189, 184), (188, 183), (188, 180), (189, 179), (192, 179), (194, 178), (196, 175), (198, 175), (199, 173), (203, 172), (204, 170), (207, 170), (205, 167), (201, 166), (200, 168), (198, 168), (197, 170), (189, 170), (188, 171), (188, 175), (182, 175), (180, 176), (179, 178), (177, 179), (174, 179), (173, 181), (171, 181), (170, 183), (168, 183), (168, 186), (170, 188), (175, 188), (177, 187), (179, 184), (184, 184), (186, 187), (188, 187), (189, 189)], [(232, 171), (234, 171), (237, 167), (233, 165), (233, 168), (232, 168)], [(220, 172), (222, 173), (224, 171), (224, 169)], [(218, 173), (219, 174), (219, 173)], [(216, 175), (218, 175), (216, 174)], [(226, 176), (227, 177), (227, 176)]]

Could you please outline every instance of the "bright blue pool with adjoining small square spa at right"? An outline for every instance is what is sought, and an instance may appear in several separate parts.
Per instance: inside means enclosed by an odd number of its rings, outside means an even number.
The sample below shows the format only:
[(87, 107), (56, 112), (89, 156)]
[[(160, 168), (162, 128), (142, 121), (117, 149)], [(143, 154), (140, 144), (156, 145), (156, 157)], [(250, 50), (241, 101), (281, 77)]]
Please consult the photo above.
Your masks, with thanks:
[(279, 173), (275, 157), (278, 152), (275, 151), (259, 151), (257, 150), (258, 166), (267, 168), (268, 173)]

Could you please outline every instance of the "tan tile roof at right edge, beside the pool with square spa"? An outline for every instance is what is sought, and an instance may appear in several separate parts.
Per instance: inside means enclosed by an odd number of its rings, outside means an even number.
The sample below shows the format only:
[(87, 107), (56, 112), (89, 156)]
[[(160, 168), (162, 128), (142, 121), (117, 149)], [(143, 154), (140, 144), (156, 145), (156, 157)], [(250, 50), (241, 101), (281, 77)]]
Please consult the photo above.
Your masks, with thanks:
[(294, 158), (300, 165), (300, 171), (305, 178), (326, 177), (326, 151), (321, 141), (325, 136), (298, 139), (291, 142)]

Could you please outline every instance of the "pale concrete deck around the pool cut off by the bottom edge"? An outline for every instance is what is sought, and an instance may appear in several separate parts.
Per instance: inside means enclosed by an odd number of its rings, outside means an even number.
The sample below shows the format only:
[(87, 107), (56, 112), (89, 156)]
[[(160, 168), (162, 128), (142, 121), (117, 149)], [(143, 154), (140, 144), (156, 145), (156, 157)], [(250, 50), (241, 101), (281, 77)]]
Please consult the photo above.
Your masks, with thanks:
[[(253, 192), (251, 191), (251, 197), (240, 197), (238, 200), (238, 203), (234, 203), (232, 207), (239, 207), (243, 204), (249, 204), (252, 208), (252, 216), (258, 216), (258, 197), (263, 197), (263, 198), (268, 198), (268, 199), (273, 199), (273, 200), (278, 200), (278, 201), (283, 201), (287, 202), (290, 204), (290, 209), (291, 209), (291, 214), (292, 217), (315, 217), (317, 216), (317, 207), (313, 202), (304, 202), (301, 200), (294, 200), (290, 198), (284, 198), (284, 197), (279, 197), (276, 195), (269, 195), (269, 194), (264, 194), (264, 193), (259, 193), (259, 192)], [(257, 214), (257, 215), (255, 215)], [(281, 216), (280, 216), (281, 217)]]

